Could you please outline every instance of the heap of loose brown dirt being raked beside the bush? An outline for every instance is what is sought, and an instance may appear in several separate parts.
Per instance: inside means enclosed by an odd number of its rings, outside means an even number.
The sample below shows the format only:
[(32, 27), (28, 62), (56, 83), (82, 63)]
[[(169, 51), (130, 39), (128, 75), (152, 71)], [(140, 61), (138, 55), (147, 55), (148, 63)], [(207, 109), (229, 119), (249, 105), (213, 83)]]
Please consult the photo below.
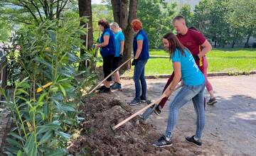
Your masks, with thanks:
[(114, 94), (97, 94), (85, 99), (82, 131), (68, 150), (73, 155), (221, 155), (218, 147), (200, 148), (174, 137), (172, 147), (154, 147), (161, 134), (139, 116), (112, 131), (110, 126), (134, 113), (129, 105), (114, 99)]

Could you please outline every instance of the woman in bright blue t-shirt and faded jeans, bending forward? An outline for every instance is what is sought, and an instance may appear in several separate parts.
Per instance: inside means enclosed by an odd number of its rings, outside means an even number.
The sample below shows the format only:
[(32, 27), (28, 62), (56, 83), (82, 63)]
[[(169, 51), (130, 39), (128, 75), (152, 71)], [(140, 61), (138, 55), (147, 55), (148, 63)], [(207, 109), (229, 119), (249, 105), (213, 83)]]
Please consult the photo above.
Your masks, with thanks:
[(193, 55), (179, 41), (176, 35), (168, 33), (163, 38), (164, 48), (170, 53), (170, 59), (174, 67), (174, 79), (169, 87), (164, 91), (162, 97), (171, 96), (176, 85), (182, 80), (182, 88), (169, 104), (169, 118), (164, 133), (153, 145), (156, 147), (171, 146), (171, 137), (178, 120), (178, 110), (192, 99), (196, 111), (196, 134), (186, 137), (186, 141), (193, 145), (201, 146), (201, 137), (205, 124), (205, 110), (203, 105), (203, 91), (205, 89), (205, 79), (198, 69)]

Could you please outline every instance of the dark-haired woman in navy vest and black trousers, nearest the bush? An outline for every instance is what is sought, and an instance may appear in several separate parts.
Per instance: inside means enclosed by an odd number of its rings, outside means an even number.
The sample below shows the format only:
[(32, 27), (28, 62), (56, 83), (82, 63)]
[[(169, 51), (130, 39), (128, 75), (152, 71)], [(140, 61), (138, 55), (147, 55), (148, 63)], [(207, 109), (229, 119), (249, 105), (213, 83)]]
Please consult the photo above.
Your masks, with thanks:
[[(114, 33), (110, 30), (110, 24), (102, 19), (98, 22), (102, 35), (98, 39), (98, 45), (96, 48), (100, 48), (100, 55), (103, 57), (103, 72), (104, 77), (107, 77), (112, 72), (112, 61), (115, 54), (114, 51)], [(100, 87), (100, 93), (110, 92), (110, 83), (112, 79), (108, 77), (103, 86)]]

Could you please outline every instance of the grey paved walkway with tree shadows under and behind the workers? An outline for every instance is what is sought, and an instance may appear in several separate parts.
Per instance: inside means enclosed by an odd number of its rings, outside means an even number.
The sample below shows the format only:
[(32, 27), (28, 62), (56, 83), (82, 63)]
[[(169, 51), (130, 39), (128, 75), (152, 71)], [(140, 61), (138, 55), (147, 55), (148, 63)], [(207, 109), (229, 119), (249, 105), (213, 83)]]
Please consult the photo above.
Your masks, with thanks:
[[(157, 99), (167, 79), (148, 79), (149, 99)], [(256, 153), (256, 75), (238, 77), (210, 77), (218, 103), (206, 107), (206, 127), (203, 140), (218, 145), (225, 155), (255, 155)], [(124, 80), (123, 91), (114, 91), (123, 101), (130, 101), (134, 94), (132, 80)], [(206, 95), (208, 93), (206, 92)], [(174, 98), (171, 96), (170, 100)], [(144, 106), (134, 106), (139, 109)], [(146, 122), (153, 123), (159, 133), (164, 133), (168, 107), (161, 116), (150, 116)], [(176, 126), (178, 135), (192, 135), (196, 114), (192, 102), (181, 108)], [(208, 146), (207, 146), (208, 147)]]

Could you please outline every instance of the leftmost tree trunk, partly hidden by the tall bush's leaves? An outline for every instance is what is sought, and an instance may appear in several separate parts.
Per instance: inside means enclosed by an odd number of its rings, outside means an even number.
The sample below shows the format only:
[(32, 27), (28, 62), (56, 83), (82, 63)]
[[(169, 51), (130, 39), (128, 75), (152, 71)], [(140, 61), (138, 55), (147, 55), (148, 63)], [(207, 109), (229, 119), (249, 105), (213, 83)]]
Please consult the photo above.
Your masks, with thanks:
[[(93, 44), (93, 34), (92, 34), (92, 1), (91, 0), (79, 0), (78, 1), (78, 6), (79, 6), (79, 15), (80, 17), (86, 16), (88, 19), (88, 40), (86, 40), (86, 35), (81, 35), (81, 39), (85, 40), (85, 43), (83, 43), (85, 46), (87, 45), (87, 49), (92, 48)], [(80, 26), (85, 26), (87, 27), (87, 23), (80, 22)], [(80, 50), (80, 55), (84, 55), (85, 50)], [(79, 69), (85, 69), (86, 61), (80, 62)]]

